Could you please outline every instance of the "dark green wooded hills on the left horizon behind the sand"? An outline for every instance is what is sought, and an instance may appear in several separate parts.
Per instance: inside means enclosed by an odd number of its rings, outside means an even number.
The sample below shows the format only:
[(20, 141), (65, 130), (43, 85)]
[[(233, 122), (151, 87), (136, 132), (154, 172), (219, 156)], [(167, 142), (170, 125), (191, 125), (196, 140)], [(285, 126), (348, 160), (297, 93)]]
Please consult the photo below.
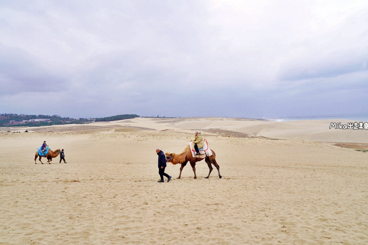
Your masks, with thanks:
[[(123, 119), (131, 119), (131, 118), (137, 118), (138, 115), (117, 115), (117, 116), (109, 116), (107, 118), (96, 118), (96, 122), (108, 122), (113, 120), (123, 120)], [(50, 119), (50, 122), (25, 122), (21, 125), (11, 125), (10, 120), (14, 120), (16, 122), (22, 122), (23, 120), (29, 120), (29, 119)], [(82, 124), (82, 123), (89, 123), (91, 122), (91, 119), (87, 118), (62, 118), (58, 115), (24, 115), (24, 114), (0, 114), (0, 127), (14, 127), (14, 126), (28, 126), (28, 127), (36, 127), (36, 126), (47, 126), (47, 125), (61, 125), (61, 124), (70, 124), (70, 123), (76, 123), (76, 124)]]

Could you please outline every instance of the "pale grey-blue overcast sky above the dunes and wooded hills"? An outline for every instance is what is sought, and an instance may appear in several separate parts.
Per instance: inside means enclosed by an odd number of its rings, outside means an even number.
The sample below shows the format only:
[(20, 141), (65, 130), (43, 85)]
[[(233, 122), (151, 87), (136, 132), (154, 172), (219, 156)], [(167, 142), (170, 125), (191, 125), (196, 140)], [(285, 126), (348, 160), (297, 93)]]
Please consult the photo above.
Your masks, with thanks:
[(368, 1), (2, 1), (0, 113), (368, 113)]

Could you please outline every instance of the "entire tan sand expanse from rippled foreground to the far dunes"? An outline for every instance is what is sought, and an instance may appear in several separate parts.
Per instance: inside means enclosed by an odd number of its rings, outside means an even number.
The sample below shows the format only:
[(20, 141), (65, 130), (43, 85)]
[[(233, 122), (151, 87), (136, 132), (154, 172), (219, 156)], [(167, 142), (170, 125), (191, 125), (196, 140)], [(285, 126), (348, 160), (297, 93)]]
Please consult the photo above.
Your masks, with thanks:
[[(365, 131), (322, 121), (11, 128), (22, 132), (0, 133), (0, 244), (368, 244), (367, 153), (308, 140), (367, 143)], [(175, 179), (180, 166), (169, 164), (173, 179), (157, 183), (155, 149), (180, 153), (193, 129), (223, 130), (203, 131), (223, 178), (204, 179), (202, 161), (198, 179), (189, 165)], [(68, 163), (35, 165), (43, 140)]]

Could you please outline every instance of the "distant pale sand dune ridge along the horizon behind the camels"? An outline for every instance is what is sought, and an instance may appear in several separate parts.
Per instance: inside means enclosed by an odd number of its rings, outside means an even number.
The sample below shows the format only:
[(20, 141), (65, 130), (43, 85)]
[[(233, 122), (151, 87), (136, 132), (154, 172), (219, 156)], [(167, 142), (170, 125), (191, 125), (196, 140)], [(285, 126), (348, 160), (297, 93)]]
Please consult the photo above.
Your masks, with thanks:
[[(88, 125), (57, 125), (45, 127), (0, 128), (0, 131), (75, 131), (77, 129), (102, 129), (111, 127), (129, 127), (138, 130), (195, 130), (222, 129), (246, 133), (251, 136), (263, 136), (287, 140), (308, 140), (326, 142), (367, 143), (368, 130), (330, 129), (330, 123), (340, 122), (347, 125), (353, 120), (300, 120), (275, 122), (241, 118), (134, 118), (113, 122), (96, 122)], [(72, 129), (74, 128), (74, 129)]]

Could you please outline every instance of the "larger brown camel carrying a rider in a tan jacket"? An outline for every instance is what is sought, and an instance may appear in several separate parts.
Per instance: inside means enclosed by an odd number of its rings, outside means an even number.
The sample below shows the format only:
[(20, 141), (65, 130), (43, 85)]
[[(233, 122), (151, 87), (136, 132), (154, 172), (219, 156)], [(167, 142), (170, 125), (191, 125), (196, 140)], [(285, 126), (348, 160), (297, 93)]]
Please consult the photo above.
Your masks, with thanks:
[[(211, 149), (212, 151), (212, 149)], [(214, 151), (212, 151), (213, 155), (212, 156), (206, 156), (205, 158), (195, 158), (192, 156), (192, 152), (190, 151), (190, 147), (189, 145), (187, 146), (187, 148), (184, 149), (183, 152), (181, 152), (180, 154), (175, 154), (175, 153), (171, 153), (171, 152), (166, 152), (165, 153), (165, 157), (166, 160), (168, 162), (171, 162), (172, 164), (181, 164), (180, 167), (180, 174), (179, 177), (177, 177), (177, 179), (180, 179), (181, 176), (181, 171), (183, 170), (183, 168), (185, 167), (185, 165), (187, 165), (187, 162), (190, 162), (190, 165), (192, 166), (193, 172), (194, 172), (194, 179), (197, 179), (197, 175), (195, 175), (195, 163), (202, 161), (203, 159), (205, 159), (205, 162), (207, 163), (208, 167), (209, 167), (209, 173), (208, 176), (205, 177), (206, 179), (208, 179), (210, 173), (212, 172), (212, 165), (215, 165), (215, 167), (217, 168), (217, 171), (219, 171), (219, 177), (220, 179), (222, 178), (221, 174), (220, 174), (220, 166), (217, 164), (216, 162), (216, 154)]]

